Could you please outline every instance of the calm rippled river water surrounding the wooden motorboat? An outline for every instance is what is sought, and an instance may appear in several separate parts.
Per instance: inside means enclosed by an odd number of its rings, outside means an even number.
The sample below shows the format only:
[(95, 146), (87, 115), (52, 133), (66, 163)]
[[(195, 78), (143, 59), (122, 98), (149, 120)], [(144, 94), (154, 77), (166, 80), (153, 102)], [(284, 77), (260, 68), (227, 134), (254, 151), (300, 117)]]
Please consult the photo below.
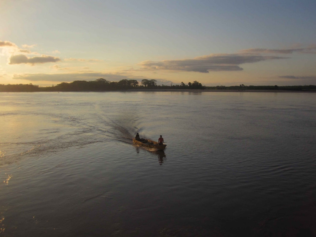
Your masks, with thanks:
[[(311, 236), (315, 101), (0, 94), (0, 236)], [(136, 132), (166, 150), (135, 146)]]

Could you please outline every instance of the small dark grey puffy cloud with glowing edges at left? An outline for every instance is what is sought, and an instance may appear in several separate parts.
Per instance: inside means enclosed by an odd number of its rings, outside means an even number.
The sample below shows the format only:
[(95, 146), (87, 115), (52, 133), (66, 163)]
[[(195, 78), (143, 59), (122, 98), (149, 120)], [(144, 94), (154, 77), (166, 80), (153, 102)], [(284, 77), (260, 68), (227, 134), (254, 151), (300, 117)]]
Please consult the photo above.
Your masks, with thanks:
[(40, 57), (36, 56), (33, 58), (29, 58), (24, 54), (12, 55), (9, 58), (9, 64), (31, 64), (32, 66), (35, 64), (43, 64), (43, 63), (56, 63), (61, 61), (59, 57), (53, 57), (49, 55), (42, 54)]

